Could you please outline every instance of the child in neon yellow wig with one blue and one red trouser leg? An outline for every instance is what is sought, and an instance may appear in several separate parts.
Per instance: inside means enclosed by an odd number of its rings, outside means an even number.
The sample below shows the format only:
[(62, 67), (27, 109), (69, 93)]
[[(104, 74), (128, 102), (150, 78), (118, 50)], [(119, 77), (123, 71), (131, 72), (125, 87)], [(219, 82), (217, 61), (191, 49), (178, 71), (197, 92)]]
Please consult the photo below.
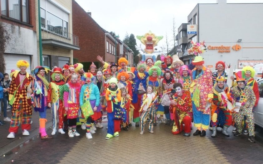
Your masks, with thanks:
[(110, 139), (113, 136), (119, 137), (120, 120), (114, 119), (114, 109), (120, 108), (121, 91), (117, 86), (117, 79), (110, 78), (110, 86), (106, 90), (107, 112), (108, 112), (108, 134), (105, 139)]

